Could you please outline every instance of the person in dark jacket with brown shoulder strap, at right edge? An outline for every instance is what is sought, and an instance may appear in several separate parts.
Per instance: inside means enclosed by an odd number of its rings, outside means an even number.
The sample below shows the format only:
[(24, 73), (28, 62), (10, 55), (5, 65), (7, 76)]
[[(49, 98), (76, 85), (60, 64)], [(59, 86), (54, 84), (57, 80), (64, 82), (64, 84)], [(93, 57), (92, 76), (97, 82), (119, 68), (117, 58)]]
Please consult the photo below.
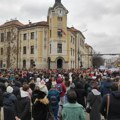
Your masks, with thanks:
[(112, 92), (108, 94), (110, 96), (110, 104), (109, 104), (109, 111), (107, 116), (107, 99), (108, 95), (105, 95), (102, 100), (101, 114), (106, 118), (107, 120), (120, 120), (120, 91), (118, 91), (118, 84), (113, 83), (111, 87)]

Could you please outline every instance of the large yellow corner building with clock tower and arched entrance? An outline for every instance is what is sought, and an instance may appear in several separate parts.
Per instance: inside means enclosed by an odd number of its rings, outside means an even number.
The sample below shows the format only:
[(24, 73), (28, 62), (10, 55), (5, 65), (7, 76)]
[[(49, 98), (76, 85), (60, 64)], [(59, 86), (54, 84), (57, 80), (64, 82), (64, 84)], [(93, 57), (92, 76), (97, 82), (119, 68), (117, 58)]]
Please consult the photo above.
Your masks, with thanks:
[[(85, 37), (67, 27), (68, 10), (55, 0), (47, 21), (23, 25), (11, 20), (0, 26), (0, 67), (5, 68), (80, 68), (91, 67)], [(89, 63), (89, 64), (88, 64)]]

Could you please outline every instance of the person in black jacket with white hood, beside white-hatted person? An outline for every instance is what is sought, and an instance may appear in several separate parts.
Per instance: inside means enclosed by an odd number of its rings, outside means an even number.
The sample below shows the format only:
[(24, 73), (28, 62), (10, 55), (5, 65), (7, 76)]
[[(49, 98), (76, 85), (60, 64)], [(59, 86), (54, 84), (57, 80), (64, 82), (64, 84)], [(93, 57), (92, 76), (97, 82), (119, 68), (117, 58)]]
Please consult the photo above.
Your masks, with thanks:
[(16, 102), (16, 120), (31, 120), (31, 101), (28, 93), (29, 85), (23, 84)]

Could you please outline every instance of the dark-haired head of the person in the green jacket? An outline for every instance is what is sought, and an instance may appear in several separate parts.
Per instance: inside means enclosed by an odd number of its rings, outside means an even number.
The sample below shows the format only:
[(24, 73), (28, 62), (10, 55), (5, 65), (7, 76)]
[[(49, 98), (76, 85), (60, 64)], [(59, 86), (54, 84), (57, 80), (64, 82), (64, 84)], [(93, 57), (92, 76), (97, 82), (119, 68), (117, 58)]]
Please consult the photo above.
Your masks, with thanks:
[(68, 98), (68, 102), (69, 103), (76, 103), (76, 101), (77, 101), (76, 92), (73, 89), (72, 90), (68, 90), (67, 98)]

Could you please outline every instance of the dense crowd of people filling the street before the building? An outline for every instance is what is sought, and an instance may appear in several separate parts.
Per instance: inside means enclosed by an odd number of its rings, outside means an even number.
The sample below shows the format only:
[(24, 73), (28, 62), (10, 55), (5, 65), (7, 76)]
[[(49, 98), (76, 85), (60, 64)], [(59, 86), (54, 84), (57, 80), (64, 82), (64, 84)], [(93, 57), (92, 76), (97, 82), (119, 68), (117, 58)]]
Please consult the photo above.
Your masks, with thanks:
[(0, 72), (1, 120), (120, 120), (120, 71)]

